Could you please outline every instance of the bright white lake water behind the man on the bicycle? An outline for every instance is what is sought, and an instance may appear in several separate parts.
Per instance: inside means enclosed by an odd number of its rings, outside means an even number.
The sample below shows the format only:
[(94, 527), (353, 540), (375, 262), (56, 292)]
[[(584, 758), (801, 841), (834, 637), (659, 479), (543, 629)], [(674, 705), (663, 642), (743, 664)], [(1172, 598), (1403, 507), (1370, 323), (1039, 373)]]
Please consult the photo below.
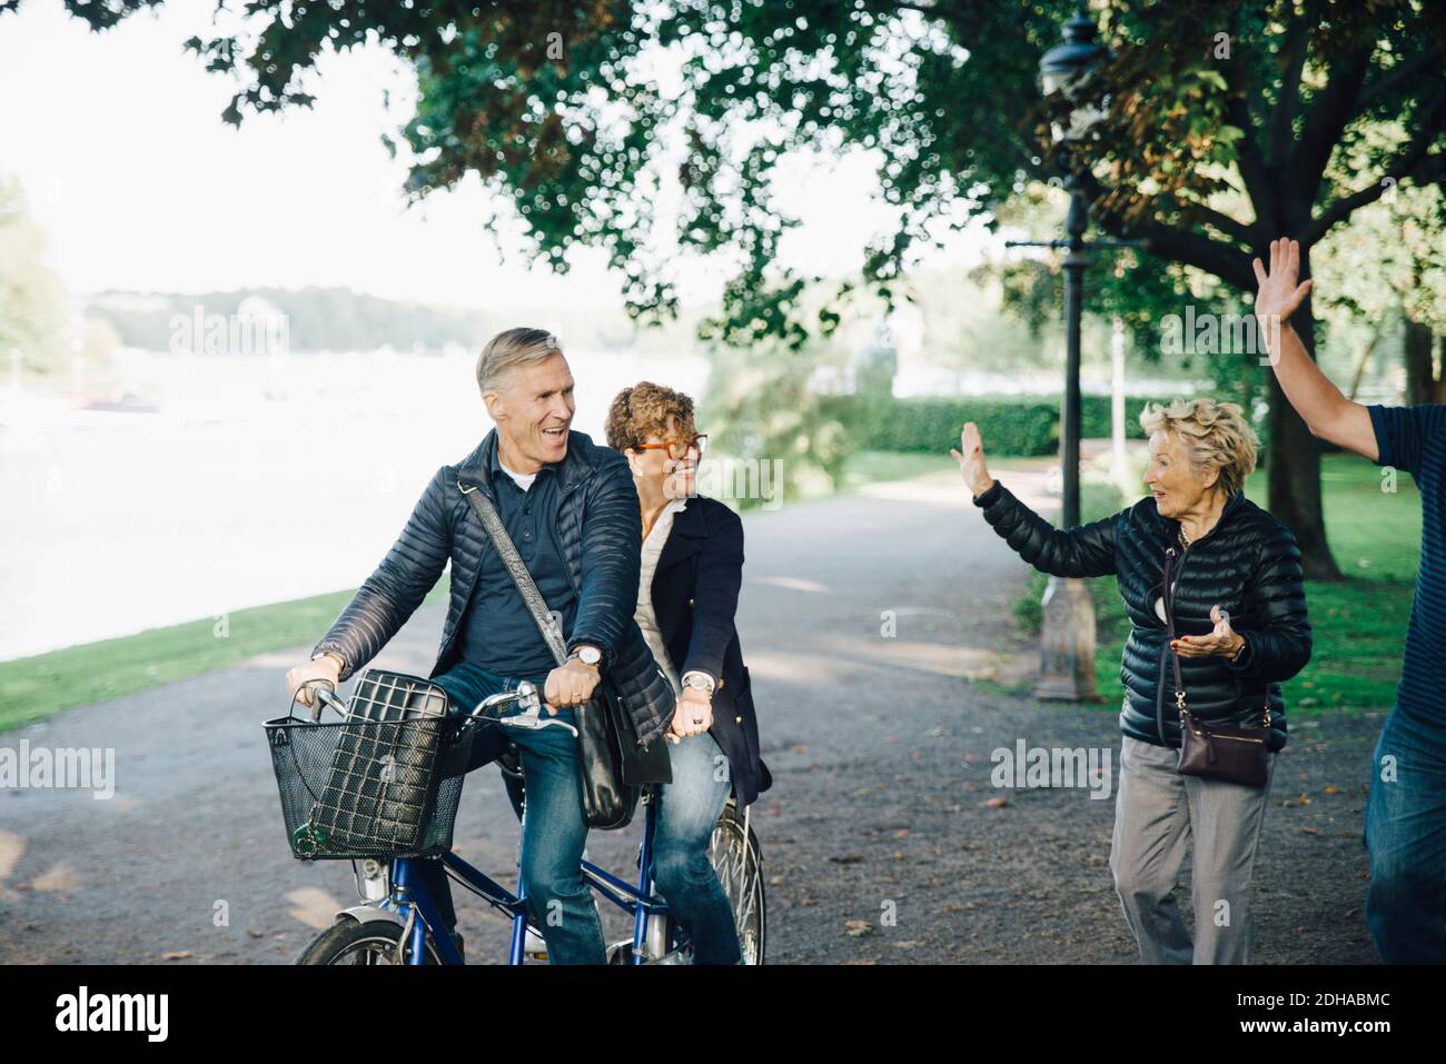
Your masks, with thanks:
[[(492, 428), (474, 357), (129, 351), (159, 412), (0, 389), (0, 661), (360, 584), (438, 466)], [(573, 351), (574, 428), (700, 356)], [(320, 635), (320, 633), (318, 633)]]

